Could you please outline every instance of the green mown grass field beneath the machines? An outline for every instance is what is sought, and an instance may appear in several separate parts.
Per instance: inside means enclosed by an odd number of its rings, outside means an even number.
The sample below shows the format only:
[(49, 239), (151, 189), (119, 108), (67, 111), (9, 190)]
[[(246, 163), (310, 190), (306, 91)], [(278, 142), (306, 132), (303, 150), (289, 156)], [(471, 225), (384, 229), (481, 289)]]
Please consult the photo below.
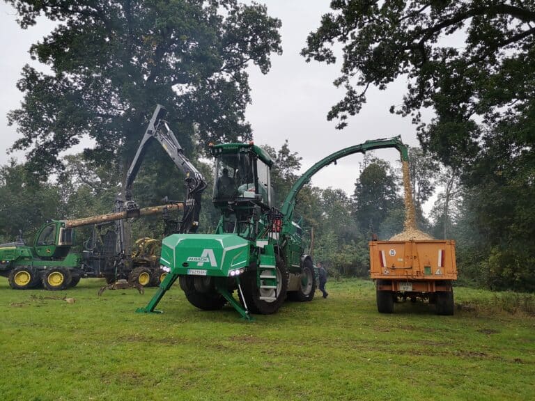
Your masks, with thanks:
[(140, 315), (155, 289), (99, 298), (102, 283), (15, 291), (0, 278), (2, 400), (535, 398), (533, 296), (456, 288), (469, 307), (454, 316), (410, 303), (380, 315), (373, 283), (333, 281), (327, 299), (248, 323), (197, 310), (178, 286), (164, 314)]

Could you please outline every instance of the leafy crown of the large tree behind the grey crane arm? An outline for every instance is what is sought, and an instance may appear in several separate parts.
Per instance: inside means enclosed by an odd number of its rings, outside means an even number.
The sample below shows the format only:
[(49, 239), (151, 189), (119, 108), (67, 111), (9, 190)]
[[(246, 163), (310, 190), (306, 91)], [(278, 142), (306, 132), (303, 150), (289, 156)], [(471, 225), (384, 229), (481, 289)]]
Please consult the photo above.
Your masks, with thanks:
[(14, 150), (29, 150), (29, 166), (62, 167), (59, 152), (83, 137), (85, 155), (116, 159), (123, 175), (155, 104), (169, 110), (178, 140), (202, 143), (249, 139), (245, 107), (251, 101), (249, 63), (270, 69), (281, 53), (281, 23), (265, 6), (236, 0), (79, 1), (6, 0), (20, 26), (39, 15), (59, 25), (31, 46), (31, 57), (52, 74), (26, 65), (17, 87), (20, 109), (8, 120), (22, 135)]

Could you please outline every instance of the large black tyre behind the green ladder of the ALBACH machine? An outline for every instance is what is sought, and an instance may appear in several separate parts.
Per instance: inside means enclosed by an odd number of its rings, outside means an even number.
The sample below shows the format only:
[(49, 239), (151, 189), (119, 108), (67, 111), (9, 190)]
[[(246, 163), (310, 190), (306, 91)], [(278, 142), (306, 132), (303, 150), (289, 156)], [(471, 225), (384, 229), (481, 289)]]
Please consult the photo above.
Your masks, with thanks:
[[(277, 289), (271, 290), (272, 294), (276, 296), (276, 299), (273, 301), (267, 301), (260, 299), (268, 295), (265, 292), (262, 292), (261, 288), (258, 288), (256, 285), (256, 272), (248, 271), (241, 278), (243, 296), (247, 302), (247, 307), (251, 313), (258, 313), (260, 315), (271, 315), (276, 313), (277, 310), (282, 306), (284, 300), (286, 299), (286, 293), (288, 292), (288, 269), (283, 260), (277, 257), (276, 262), (277, 267)], [(261, 269), (261, 267), (258, 267)]]

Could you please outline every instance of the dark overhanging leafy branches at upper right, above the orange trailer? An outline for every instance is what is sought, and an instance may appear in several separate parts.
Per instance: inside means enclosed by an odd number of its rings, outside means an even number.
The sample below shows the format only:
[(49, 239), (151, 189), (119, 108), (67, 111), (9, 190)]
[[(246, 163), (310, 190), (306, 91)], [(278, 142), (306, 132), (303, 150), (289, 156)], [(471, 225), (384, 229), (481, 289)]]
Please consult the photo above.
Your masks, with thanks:
[[(346, 96), (327, 116), (339, 118), (339, 128), (362, 109), (370, 86), (385, 89), (404, 76), (403, 105), (391, 111), (412, 116), (424, 148), (445, 164), (470, 164), (500, 142), (497, 134), (513, 148), (534, 145), (532, 1), (334, 0), (331, 8), (302, 55), (335, 63), (334, 44), (342, 45), (335, 84)], [(436, 117), (425, 124), (428, 107)], [(495, 129), (503, 123), (517, 129), (506, 136)]]

